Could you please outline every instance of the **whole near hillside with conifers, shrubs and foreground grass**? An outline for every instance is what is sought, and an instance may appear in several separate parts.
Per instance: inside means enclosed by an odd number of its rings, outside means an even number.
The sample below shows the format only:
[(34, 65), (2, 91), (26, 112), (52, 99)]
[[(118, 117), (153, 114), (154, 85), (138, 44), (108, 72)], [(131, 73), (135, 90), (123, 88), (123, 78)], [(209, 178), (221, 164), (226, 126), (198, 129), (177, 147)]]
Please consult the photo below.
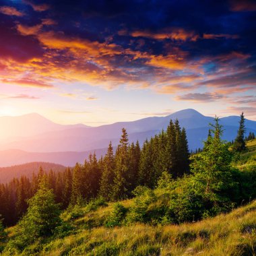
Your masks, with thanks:
[(2, 228), (3, 254), (253, 255), (255, 202), (234, 208), (256, 198), (256, 142), (243, 114), (233, 143), (222, 132), (216, 118), (189, 156), (179, 121), (141, 148), (123, 129), (115, 153), (1, 185), (3, 224), (18, 221)]

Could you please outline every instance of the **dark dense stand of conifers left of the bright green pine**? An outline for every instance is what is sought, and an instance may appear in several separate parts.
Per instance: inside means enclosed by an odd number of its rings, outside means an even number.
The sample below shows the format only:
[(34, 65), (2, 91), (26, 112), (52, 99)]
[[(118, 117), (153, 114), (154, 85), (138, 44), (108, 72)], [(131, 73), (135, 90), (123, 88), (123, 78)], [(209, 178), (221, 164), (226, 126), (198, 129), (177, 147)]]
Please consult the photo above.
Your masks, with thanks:
[(138, 185), (153, 188), (163, 171), (175, 178), (189, 172), (186, 132), (178, 120), (170, 121), (166, 131), (145, 141), (142, 148), (138, 142), (129, 145), (127, 132), (123, 129), (116, 152), (110, 142), (104, 158), (97, 160), (96, 155), (91, 154), (84, 164), (77, 163), (73, 169), (46, 173), (41, 167), (32, 179), (24, 176), (1, 184), (0, 214), (5, 224), (15, 224), (26, 212), (26, 200), (36, 193), (38, 181), (44, 175), (55, 193), (55, 200), (65, 209), (98, 195), (107, 201), (131, 197)]

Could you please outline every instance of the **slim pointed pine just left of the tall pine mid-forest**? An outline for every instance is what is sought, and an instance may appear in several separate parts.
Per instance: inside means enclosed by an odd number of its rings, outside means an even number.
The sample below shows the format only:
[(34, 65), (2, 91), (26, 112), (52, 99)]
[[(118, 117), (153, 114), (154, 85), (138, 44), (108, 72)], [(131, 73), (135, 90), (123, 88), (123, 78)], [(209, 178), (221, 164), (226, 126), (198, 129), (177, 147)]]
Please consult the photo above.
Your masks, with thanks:
[(110, 141), (108, 145), (108, 151), (103, 160), (103, 172), (100, 179), (100, 192), (99, 194), (106, 200), (111, 199), (111, 193), (114, 182), (114, 170), (115, 170), (115, 156), (113, 152), (113, 146)]

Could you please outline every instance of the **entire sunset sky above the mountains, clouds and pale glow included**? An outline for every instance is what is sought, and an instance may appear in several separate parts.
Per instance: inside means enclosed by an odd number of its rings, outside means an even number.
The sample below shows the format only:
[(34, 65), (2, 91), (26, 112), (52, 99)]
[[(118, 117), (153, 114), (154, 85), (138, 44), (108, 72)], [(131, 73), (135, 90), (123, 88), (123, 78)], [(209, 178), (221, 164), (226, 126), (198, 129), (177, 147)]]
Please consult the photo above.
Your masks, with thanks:
[(0, 0), (0, 116), (256, 120), (256, 1)]

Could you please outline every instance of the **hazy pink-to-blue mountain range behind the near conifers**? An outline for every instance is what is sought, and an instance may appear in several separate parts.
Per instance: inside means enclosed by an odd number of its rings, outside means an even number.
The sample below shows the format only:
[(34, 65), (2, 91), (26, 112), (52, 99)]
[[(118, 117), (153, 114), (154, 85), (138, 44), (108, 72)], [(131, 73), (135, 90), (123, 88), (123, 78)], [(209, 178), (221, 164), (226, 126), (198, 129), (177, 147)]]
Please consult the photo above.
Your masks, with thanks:
[[(83, 162), (90, 152), (95, 151), (97, 156), (104, 154), (109, 141), (117, 146), (123, 127), (127, 129), (129, 141), (138, 140), (142, 144), (146, 138), (166, 129), (170, 119), (179, 119), (181, 127), (185, 127), (190, 150), (202, 147), (209, 123), (214, 121), (213, 117), (205, 117), (193, 109), (166, 117), (148, 117), (99, 127), (59, 125), (38, 114), (0, 117), (0, 166), (35, 161), (73, 166), (75, 162)], [(239, 120), (238, 116), (220, 119), (224, 139), (231, 141), (236, 137)], [(256, 133), (256, 121), (246, 119), (245, 126), (247, 134), (249, 131)]]

